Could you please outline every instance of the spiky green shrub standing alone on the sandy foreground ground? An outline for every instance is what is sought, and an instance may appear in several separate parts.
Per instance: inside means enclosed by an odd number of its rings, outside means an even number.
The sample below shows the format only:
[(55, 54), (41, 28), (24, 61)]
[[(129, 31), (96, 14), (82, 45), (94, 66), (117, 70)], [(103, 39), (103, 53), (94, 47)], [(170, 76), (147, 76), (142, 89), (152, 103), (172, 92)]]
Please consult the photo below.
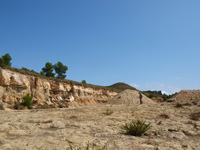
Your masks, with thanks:
[(141, 136), (143, 133), (149, 130), (150, 127), (150, 123), (146, 124), (141, 120), (133, 120), (130, 123), (125, 123), (125, 125), (122, 126), (122, 129), (124, 129), (127, 134)]

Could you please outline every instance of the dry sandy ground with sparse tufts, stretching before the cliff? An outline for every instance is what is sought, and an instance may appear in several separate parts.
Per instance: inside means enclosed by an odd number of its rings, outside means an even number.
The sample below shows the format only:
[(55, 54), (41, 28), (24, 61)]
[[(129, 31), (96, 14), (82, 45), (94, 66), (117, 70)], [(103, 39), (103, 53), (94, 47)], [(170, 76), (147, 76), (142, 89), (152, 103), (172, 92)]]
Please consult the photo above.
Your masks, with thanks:
[[(1, 150), (67, 150), (88, 141), (108, 150), (200, 150), (200, 121), (189, 118), (198, 106), (96, 105), (46, 110), (0, 111)], [(169, 116), (166, 117), (166, 115)], [(151, 128), (141, 137), (126, 135), (125, 122), (142, 119)]]

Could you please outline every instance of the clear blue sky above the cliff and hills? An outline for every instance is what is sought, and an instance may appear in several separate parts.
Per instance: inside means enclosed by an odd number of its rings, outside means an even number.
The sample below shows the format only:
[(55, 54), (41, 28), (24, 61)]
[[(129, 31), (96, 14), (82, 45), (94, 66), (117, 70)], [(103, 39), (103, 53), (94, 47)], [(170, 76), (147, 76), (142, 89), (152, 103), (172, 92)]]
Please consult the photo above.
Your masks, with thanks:
[(199, 0), (0, 0), (0, 56), (96, 85), (200, 89), (199, 18)]

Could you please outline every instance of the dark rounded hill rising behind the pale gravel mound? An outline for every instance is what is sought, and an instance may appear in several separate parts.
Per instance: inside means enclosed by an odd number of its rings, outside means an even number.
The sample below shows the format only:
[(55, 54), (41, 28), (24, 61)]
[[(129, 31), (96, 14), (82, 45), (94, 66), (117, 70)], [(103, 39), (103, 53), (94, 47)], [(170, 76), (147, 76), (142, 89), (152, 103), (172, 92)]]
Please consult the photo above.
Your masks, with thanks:
[(126, 84), (126, 83), (123, 83), (123, 82), (118, 82), (118, 83), (115, 83), (113, 85), (110, 85), (108, 86), (109, 88), (113, 89), (114, 91), (117, 91), (117, 92), (122, 92), (124, 90), (137, 90), (136, 88)]

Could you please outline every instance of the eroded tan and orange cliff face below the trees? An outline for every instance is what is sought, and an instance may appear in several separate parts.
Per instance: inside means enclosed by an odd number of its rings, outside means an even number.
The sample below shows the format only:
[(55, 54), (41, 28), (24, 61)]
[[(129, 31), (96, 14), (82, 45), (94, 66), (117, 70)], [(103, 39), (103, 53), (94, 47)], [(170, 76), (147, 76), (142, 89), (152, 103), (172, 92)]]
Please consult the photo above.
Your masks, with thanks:
[(23, 96), (28, 93), (33, 96), (35, 107), (93, 105), (107, 102), (117, 94), (109, 90), (58, 82), (0, 68), (0, 101), (6, 107), (12, 107), (15, 101), (22, 102)]

